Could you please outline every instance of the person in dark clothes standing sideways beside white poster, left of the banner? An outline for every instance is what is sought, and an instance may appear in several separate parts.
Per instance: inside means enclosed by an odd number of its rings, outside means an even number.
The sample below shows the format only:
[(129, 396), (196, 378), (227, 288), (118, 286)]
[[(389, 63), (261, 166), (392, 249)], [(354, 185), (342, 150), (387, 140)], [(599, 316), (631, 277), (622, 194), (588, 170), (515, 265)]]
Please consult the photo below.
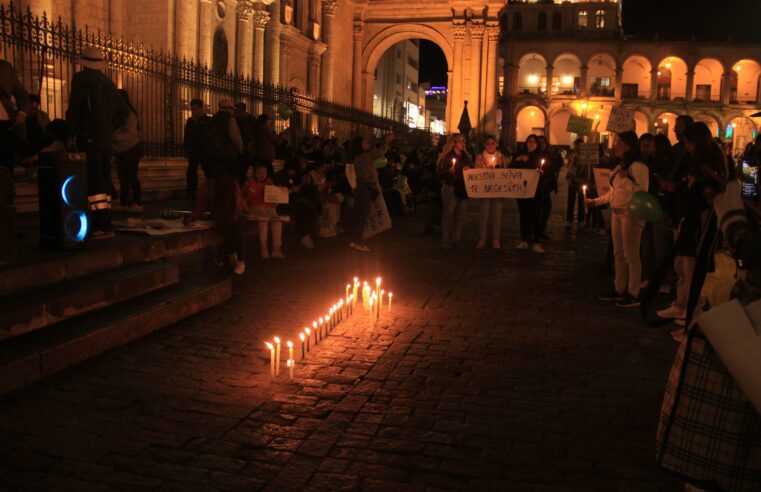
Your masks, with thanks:
[(354, 188), (354, 229), (349, 247), (365, 253), (370, 251), (364, 238), (370, 204), (381, 192), (378, 183), (378, 169), (373, 162), (375, 156), (370, 152), (370, 148), (370, 141), (367, 138), (363, 136), (354, 137), (351, 156), (354, 163), (354, 173), (357, 176), (357, 187)]

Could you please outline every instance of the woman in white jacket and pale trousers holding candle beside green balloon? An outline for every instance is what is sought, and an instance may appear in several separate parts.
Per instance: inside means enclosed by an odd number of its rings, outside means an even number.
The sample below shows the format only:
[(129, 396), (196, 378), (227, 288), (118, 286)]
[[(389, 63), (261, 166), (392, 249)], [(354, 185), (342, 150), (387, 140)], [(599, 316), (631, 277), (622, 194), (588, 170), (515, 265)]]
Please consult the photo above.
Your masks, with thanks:
[(590, 206), (609, 204), (613, 235), (613, 256), (616, 275), (614, 289), (600, 299), (616, 301), (619, 307), (640, 305), (642, 264), (639, 257), (640, 239), (645, 223), (629, 213), (629, 197), (637, 191), (647, 191), (649, 172), (641, 162), (639, 141), (634, 132), (618, 135), (613, 147), (617, 161), (610, 177), (611, 189), (599, 198), (587, 200)]

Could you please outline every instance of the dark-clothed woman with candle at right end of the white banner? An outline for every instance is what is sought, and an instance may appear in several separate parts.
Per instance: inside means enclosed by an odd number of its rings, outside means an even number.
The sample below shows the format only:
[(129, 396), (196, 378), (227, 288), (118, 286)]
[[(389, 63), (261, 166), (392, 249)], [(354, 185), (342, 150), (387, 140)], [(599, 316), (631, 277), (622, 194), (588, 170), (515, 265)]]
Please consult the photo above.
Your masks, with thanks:
[[(545, 199), (542, 190), (547, 189), (544, 168), (550, 166), (550, 157), (539, 150), (539, 140), (536, 135), (526, 138), (526, 151), (518, 154), (511, 164), (516, 169), (536, 169), (542, 176), (536, 187), (533, 198), (519, 198), (518, 212), (520, 214), (521, 241), (518, 249), (528, 249), (529, 243), (533, 242), (531, 249), (535, 253), (544, 253), (542, 246), (542, 201)], [(543, 182), (544, 181), (544, 182)]]

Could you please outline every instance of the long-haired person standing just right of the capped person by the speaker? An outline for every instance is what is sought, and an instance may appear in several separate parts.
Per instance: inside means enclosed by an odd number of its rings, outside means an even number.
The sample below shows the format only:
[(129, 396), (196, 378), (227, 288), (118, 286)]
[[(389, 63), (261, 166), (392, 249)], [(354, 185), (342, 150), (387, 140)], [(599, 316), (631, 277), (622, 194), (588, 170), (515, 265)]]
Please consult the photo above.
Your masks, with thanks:
[[(129, 115), (124, 124), (114, 131), (113, 148), (116, 155), (116, 171), (119, 175), (119, 203), (121, 208), (130, 212), (142, 212), (142, 196), (137, 170), (143, 156), (143, 144), (140, 139), (140, 120), (137, 111), (124, 89), (119, 89), (124, 102), (129, 108)], [(128, 203), (132, 190), (132, 203)]]

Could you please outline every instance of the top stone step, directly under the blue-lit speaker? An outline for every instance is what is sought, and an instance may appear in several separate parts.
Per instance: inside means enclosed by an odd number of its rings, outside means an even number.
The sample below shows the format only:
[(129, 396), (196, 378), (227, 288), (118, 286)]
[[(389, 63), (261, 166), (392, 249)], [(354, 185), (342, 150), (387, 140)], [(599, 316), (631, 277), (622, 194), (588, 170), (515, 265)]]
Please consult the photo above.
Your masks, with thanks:
[(20, 248), (15, 262), (0, 268), (0, 296), (153, 260), (171, 258), (184, 269), (186, 262), (197, 264), (199, 256), (219, 242), (215, 231), (206, 229), (162, 237), (117, 234), (110, 241), (91, 242), (66, 252), (40, 251), (29, 244)]

